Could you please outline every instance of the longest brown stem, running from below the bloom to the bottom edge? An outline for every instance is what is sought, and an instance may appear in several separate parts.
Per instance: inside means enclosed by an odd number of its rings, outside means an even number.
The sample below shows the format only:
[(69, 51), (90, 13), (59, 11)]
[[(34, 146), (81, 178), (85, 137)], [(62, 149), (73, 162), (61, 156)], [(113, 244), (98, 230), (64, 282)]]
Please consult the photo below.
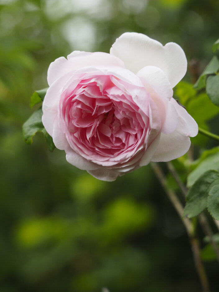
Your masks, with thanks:
[(176, 196), (176, 194), (168, 188), (162, 169), (155, 162), (151, 162), (151, 167), (153, 168), (155, 175), (160, 181), (162, 187), (164, 188), (167, 196), (169, 197), (171, 203), (173, 204), (174, 208), (178, 212), (178, 215), (180, 216), (185, 226), (185, 229), (189, 236), (189, 241), (190, 241), (191, 249), (193, 252), (194, 263), (195, 263), (195, 267), (199, 276), (199, 280), (200, 280), (203, 292), (209, 292), (210, 289), (209, 289), (208, 279), (206, 276), (205, 268), (201, 260), (199, 242), (198, 242), (198, 239), (195, 237), (194, 226), (188, 218), (183, 218), (183, 206), (180, 200), (178, 199), (178, 197)]

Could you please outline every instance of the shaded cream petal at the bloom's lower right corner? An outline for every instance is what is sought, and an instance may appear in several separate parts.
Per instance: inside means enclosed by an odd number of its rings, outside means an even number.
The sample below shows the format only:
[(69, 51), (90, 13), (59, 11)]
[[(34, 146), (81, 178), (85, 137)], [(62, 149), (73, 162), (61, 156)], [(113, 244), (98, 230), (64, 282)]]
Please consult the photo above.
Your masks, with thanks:
[(184, 155), (190, 147), (190, 138), (176, 129), (171, 134), (161, 134), (160, 143), (151, 159), (166, 162)]

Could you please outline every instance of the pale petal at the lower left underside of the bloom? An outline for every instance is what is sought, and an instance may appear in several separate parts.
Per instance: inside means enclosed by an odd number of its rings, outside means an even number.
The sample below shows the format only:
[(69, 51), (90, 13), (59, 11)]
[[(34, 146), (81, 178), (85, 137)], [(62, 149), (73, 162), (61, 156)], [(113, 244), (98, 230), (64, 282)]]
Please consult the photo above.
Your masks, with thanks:
[(98, 169), (100, 166), (88, 161), (78, 153), (76, 153), (70, 146), (65, 149), (66, 152), (66, 160), (70, 164), (74, 165), (75, 167), (82, 169), (82, 170), (94, 170)]

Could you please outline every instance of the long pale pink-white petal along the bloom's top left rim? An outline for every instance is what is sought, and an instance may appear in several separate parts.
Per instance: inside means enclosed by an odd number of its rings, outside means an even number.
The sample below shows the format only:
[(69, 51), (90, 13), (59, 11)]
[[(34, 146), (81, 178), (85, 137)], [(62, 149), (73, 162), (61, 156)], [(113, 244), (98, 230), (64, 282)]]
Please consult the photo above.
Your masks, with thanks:
[(75, 51), (65, 57), (56, 59), (49, 65), (47, 81), (49, 86), (58, 78), (68, 72), (88, 66), (120, 66), (125, 67), (119, 58), (103, 52), (79, 52)]

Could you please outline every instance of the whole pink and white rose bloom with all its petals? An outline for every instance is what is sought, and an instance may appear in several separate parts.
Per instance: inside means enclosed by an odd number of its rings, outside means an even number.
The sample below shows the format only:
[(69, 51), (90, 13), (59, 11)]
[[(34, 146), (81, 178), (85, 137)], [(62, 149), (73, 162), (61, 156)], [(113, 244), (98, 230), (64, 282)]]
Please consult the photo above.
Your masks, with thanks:
[(138, 33), (109, 54), (74, 51), (49, 66), (43, 125), (69, 163), (100, 180), (175, 159), (198, 133), (172, 97), (186, 68), (179, 45)]

